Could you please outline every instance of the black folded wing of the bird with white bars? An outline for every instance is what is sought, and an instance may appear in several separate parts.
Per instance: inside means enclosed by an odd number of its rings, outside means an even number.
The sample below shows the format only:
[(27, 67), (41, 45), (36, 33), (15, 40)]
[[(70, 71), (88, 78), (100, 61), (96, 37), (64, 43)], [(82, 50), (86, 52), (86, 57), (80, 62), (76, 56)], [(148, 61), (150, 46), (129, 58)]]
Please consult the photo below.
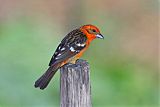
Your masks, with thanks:
[(87, 37), (79, 29), (71, 31), (61, 41), (52, 56), (49, 66), (62, 62), (79, 53), (86, 46)]

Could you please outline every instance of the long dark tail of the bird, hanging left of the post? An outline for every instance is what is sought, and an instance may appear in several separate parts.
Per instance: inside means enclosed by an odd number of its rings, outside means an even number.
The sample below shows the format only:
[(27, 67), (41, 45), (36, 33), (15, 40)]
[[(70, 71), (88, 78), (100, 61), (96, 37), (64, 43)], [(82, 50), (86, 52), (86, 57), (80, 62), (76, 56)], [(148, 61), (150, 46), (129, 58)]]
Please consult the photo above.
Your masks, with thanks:
[(35, 82), (34, 86), (36, 88), (39, 87), (42, 90), (45, 89), (59, 68), (60, 64), (51, 65), (47, 71)]

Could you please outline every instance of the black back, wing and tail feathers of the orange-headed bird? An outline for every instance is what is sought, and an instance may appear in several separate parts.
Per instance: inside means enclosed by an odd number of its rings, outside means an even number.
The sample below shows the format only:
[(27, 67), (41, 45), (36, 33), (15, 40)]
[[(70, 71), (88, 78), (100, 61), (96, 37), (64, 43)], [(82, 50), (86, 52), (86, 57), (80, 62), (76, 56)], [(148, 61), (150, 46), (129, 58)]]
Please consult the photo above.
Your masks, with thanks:
[[(71, 31), (61, 41), (57, 47), (54, 55), (52, 56), (48, 70), (35, 82), (35, 87), (45, 89), (56, 71), (60, 68), (61, 63), (79, 53), (84, 46), (78, 46), (77, 44), (85, 44), (87, 41), (86, 35), (83, 34), (79, 29)], [(74, 49), (74, 51), (71, 50)]]

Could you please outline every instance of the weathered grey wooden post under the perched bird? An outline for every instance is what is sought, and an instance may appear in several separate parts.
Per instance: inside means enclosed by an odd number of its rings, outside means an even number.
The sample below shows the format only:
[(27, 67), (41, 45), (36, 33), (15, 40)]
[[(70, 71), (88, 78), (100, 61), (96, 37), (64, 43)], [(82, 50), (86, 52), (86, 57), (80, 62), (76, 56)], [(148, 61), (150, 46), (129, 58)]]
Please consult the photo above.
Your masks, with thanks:
[(60, 71), (61, 107), (92, 107), (88, 63), (80, 59)]

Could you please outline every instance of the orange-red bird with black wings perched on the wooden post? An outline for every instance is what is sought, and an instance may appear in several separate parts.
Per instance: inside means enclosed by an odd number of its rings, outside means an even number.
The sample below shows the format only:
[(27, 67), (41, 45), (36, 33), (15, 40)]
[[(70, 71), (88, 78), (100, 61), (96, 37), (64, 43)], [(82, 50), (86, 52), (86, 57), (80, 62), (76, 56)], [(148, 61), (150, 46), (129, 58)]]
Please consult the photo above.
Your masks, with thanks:
[(35, 82), (35, 88), (45, 89), (57, 70), (67, 63), (75, 64), (96, 38), (104, 39), (104, 36), (96, 26), (91, 24), (83, 25), (68, 33), (54, 52), (49, 68)]

